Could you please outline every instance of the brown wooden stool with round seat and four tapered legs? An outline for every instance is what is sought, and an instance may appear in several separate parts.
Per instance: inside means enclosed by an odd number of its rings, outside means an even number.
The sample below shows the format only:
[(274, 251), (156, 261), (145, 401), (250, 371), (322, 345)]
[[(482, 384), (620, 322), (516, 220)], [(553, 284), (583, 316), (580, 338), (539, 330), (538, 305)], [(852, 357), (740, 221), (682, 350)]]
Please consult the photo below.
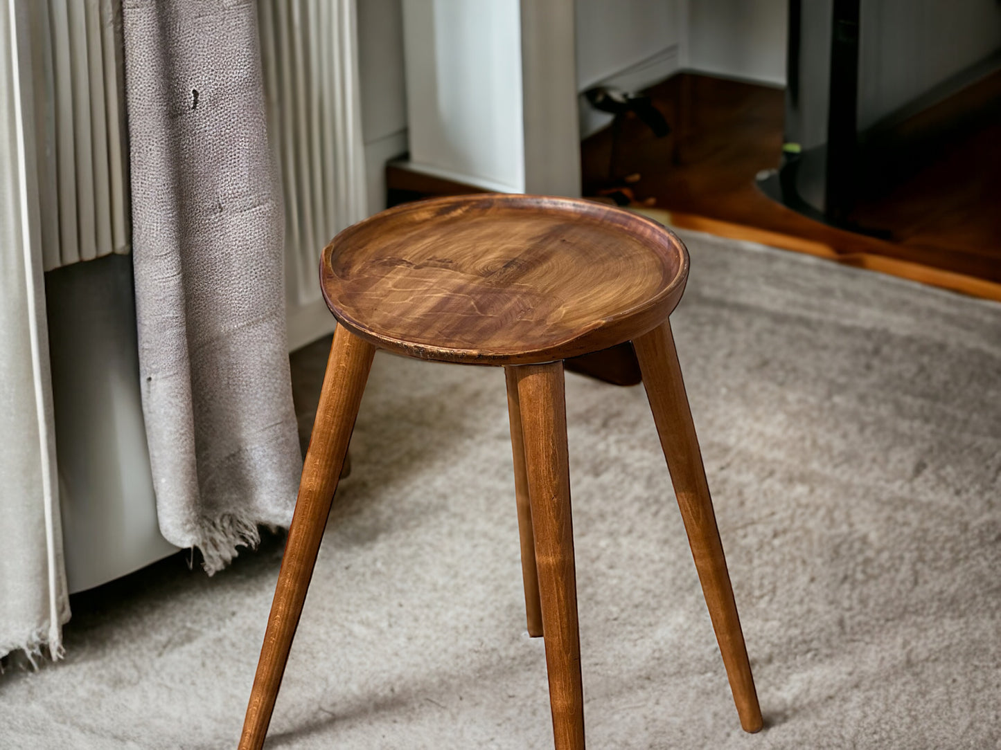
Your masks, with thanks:
[(584, 748), (563, 360), (633, 341), (741, 725), (761, 729), (668, 316), (688, 251), (660, 224), (567, 198), (466, 195), (383, 211), (324, 249), (340, 323), (302, 468), (240, 748), (260, 748), (376, 348), (500, 365), (529, 633), (545, 634), (558, 750)]

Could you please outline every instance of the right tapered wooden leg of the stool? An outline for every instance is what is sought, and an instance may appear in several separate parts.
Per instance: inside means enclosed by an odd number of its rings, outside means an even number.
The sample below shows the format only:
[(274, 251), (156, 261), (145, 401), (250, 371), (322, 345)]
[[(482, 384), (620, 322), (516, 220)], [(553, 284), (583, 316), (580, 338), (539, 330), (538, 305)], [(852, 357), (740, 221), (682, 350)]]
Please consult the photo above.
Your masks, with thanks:
[(633, 343), (741, 726), (757, 732), (762, 727), (761, 708), (670, 323), (665, 321)]

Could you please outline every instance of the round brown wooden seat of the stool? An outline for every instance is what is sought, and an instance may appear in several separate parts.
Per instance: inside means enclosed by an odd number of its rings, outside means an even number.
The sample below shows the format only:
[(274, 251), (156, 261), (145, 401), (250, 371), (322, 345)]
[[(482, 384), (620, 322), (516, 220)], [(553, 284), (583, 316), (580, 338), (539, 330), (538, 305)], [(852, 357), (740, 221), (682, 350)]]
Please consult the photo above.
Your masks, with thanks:
[(323, 250), (334, 317), (376, 346), (468, 364), (552, 362), (667, 320), (688, 252), (657, 222), (590, 201), (477, 194), (383, 211)]

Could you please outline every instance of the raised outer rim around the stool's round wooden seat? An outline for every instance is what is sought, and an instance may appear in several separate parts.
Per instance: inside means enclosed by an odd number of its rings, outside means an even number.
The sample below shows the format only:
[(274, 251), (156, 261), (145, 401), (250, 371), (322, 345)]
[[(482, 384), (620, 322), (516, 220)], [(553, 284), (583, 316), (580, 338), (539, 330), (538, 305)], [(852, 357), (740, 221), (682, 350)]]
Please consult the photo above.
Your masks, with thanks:
[[(502, 208), (563, 216), (568, 220), (587, 219), (609, 222), (616, 232), (623, 233), (634, 242), (642, 244), (651, 254), (663, 259), (674, 268), (673, 277), (627, 309), (615, 311), (596, 319), (592, 324), (566, 335), (533, 342), (526, 346), (491, 348), (483, 346), (455, 346), (447, 342), (417, 341), (415, 337), (394, 334), (360, 319), (357, 310), (344, 304), (339, 291), (343, 280), (333, 269), (333, 260), (340, 252), (349, 251), (352, 242), (370, 236), (377, 228), (391, 220), (405, 218), (412, 212), (450, 216), (454, 213), (476, 217), (476, 212)], [(429, 219), (433, 221), (433, 218)], [(458, 196), (430, 198), (381, 211), (339, 232), (323, 249), (320, 256), (320, 290), (327, 307), (340, 325), (354, 335), (378, 348), (417, 359), (478, 365), (518, 365), (553, 362), (581, 354), (606, 349), (631, 341), (654, 329), (677, 306), (685, 289), (689, 273), (689, 254), (681, 239), (660, 222), (632, 211), (605, 203), (581, 198), (540, 196), (513, 193), (473, 193)]]

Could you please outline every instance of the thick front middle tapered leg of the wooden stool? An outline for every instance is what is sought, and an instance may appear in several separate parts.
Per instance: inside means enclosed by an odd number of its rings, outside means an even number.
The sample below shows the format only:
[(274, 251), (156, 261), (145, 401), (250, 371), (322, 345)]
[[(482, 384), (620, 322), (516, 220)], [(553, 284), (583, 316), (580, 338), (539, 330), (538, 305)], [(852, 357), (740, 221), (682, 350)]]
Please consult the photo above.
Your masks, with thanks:
[(513, 368), (532, 502), (557, 750), (584, 750), (584, 687), (562, 362)]

